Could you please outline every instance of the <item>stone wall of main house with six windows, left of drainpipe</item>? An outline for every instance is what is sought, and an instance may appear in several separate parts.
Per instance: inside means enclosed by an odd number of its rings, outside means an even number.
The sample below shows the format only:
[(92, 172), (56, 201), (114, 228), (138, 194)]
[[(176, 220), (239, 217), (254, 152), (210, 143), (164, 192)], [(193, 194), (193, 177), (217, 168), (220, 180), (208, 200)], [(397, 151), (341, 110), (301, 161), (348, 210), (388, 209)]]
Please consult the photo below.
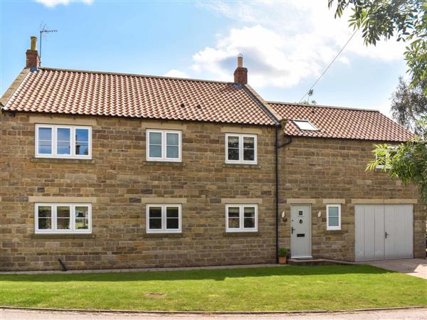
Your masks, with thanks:
[[(1, 114), (1, 270), (275, 262), (273, 127)], [(34, 158), (34, 122), (93, 124), (93, 159)], [(181, 129), (182, 163), (145, 161), (145, 129)], [(258, 133), (258, 165), (228, 165), (225, 132)], [(33, 197), (94, 199), (92, 235), (35, 235)], [(145, 232), (145, 203), (182, 203), (182, 234)], [(226, 233), (224, 199), (258, 201), (258, 233)], [(252, 201), (253, 199), (253, 201)]]

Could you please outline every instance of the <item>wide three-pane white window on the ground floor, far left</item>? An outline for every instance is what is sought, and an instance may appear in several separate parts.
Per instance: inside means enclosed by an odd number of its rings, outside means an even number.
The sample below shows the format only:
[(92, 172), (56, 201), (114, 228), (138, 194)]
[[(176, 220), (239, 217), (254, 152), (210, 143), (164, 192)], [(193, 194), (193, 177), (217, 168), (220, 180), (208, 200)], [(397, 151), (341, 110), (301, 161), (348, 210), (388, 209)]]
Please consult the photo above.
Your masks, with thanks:
[(88, 203), (36, 203), (36, 233), (91, 233)]

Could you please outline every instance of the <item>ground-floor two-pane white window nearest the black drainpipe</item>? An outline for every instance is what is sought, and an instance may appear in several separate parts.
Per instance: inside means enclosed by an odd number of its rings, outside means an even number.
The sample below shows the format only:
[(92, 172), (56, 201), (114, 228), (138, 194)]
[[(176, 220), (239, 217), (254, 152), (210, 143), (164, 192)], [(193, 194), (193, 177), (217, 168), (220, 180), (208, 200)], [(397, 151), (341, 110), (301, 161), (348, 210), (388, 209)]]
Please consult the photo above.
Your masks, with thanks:
[(226, 205), (226, 231), (246, 232), (258, 230), (258, 206)]

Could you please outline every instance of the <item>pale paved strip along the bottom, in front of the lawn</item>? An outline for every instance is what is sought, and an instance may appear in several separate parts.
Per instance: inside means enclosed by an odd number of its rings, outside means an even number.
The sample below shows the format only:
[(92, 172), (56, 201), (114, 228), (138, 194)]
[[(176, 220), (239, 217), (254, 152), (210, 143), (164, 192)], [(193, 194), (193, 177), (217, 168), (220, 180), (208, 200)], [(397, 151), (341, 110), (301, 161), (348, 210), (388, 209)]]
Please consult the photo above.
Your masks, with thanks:
[(273, 319), (427, 319), (427, 308), (422, 309), (397, 309), (382, 311), (358, 311), (339, 312), (321, 314), (107, 314), (89, 312), (58, 312), (58, 311), (27, 311), (17, 309), (0, 309), (1, 320), (138, 320), (138, 319), (253, 319), (253, 320), (273, 320)]

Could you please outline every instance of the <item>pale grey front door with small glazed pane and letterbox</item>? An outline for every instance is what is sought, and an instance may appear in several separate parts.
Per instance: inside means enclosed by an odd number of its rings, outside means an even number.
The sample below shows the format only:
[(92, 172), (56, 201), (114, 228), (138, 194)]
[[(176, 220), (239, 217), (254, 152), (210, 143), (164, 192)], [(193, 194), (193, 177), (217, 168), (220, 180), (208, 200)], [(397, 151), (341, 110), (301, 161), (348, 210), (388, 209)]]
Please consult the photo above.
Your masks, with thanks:
[(290, 207), (290, 255), (292, 258), (312, 257), (311, 207)]

